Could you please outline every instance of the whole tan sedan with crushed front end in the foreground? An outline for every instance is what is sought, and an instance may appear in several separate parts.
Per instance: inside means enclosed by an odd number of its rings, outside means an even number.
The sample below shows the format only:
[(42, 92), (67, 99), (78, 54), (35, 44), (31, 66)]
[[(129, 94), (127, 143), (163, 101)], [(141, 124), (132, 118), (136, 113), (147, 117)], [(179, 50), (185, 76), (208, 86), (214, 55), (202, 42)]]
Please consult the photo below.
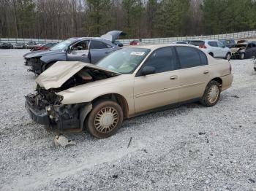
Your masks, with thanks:
[(184, 44), (125, 47), (97, 65), (57, 62), (37, 77), (26, 96), (31, 118), (64, 133), (116, 133), (124, 119), (177, 103), (214, 106), (231, 86), (228, 61)]

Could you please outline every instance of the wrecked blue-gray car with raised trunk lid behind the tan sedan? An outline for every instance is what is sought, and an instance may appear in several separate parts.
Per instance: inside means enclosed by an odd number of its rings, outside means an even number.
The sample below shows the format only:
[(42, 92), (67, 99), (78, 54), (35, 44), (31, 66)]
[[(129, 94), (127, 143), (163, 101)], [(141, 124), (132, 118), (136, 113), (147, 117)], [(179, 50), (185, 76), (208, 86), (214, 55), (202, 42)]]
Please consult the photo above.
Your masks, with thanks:
[(97, 63), (100, 59), (118, 50), (120, 47), (114, 42), (122, 31), (110, 31), (100, 37), (81, 37), (67, 39), (48, 51), (29, 52), (23, 55), (25, 65), (30, 66), (29, 71), (41, 74), (57, 61), (82, 61)]

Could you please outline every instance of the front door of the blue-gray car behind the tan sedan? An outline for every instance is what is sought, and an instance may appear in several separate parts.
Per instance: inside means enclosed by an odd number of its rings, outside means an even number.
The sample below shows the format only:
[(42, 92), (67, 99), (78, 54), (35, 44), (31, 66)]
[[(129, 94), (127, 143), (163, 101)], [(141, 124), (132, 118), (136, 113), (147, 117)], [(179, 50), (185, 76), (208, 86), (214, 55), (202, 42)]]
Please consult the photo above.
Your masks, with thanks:
[(67, 61), (81, 61), (88, 63), (89, 40), (80, 41), (70, 47), (67, 53)]

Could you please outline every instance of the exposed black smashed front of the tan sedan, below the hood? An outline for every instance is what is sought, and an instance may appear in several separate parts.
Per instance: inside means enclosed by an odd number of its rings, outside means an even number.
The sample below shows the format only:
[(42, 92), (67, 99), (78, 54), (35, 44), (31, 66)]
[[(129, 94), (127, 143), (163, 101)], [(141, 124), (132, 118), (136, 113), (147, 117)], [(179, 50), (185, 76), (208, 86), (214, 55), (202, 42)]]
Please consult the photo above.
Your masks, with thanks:
[(26, 95), (26, 109), (34, 122), (49, 125), (51, 128), (63, 133), (66, 130), (82, 130), (80, 124), (80, 109), (82, 104), (61, 104), (61, 95), (53, 90), (44, 90), (37, 86), (37, 94)]

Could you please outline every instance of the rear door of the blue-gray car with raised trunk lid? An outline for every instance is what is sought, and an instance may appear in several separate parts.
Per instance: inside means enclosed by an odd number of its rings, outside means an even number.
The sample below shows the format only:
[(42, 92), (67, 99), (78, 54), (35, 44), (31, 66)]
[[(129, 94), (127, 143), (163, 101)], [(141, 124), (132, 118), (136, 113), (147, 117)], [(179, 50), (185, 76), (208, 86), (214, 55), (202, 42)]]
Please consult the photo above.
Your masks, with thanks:
[(92, 39), (90, 43), (91, 63), (97, 63), (99, 60), (114, 51), (113, 46), (96, 39)]

